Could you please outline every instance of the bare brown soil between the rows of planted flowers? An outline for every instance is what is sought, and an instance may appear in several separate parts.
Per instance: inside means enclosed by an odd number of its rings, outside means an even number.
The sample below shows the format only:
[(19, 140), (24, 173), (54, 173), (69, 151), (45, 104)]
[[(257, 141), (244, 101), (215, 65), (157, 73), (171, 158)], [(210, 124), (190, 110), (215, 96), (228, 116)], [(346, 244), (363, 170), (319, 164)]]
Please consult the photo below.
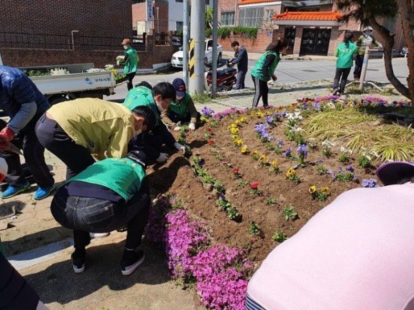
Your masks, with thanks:
[[(186, 207), (193, 214), (207, 220), (211, 229), (210, 233), (215, 242), (221, 242), (233, 247), (243, 247), (248, 251), (249, 257), (255, 262), (261, 262), (268, 253), (279, 243), (272, 240), (275, 231), (282, 229), (290, 237), (293, 236), (314, 214), (320, 209), (331, 203), (335, 197), (342, 192), (354, 187), (360, 187), (359, 183), (343, 183), (333, 180), (330, 175), (319, 175), (316, 172), (316, 162), (324, 160), (323, 165), (337, 171), (338, 167), (346, 167), (346, 164), (339, 163), (339, 147), (333, 150), (330, 158), (322, 155), (320, 150), (311, 150), (306, 160), (306, 167), (297, 169), (297, 174), (302, 182), (295, 184), (286, 180), (286, 172), (291, 167), (292, 161), (283, 154), (275, 154), (266, 149), (264, 143), (257, 138), (254, 127), (256, 123), (264, 122), (264, 118), (249, 118), (249, 123), (244, 124), (240, 137), (244, 140), (250, 150), (257, 149), (259, 154), (267, 154), (270, 161), (276, 159), (281, 169), (280, 174), (270, 172), (269, 167), (261, 167), (259, 161), (254, 161), (250, 155), (243, 155), (239, 152), (239, 147), (233, 146), (228, 125), (233, 123), (235, 118), (224, 118), (216, 128), (213, 128), (212, 139), (215, 145), (208, 145), (204, 136), (208, 125), (199, 128), (193, 133), (188, 134), (187, 143), (193, 149), (193, 156), (190, 161), (178, 154), (170, 157), (165, 167), (152, 167), (150, 173), (150, 183), (152, 194), (160, 193), (177, 194), (186, 201)], [(273, 143), (279, 139), (284, 141), (283, 149), (288, 147), (293, 149), (292, 154), (296, 154), (296, 145), (288, 141), (284, 135), (284, 125), (279, 123), (277, 127), (270, 130), (270, 134), (275, 137)], [(221, 158), (217, 158), (217, 152)], [(204, 158), (204, 168), (208, 173), (221, 181), (226, 187), (226, 198), (234, 205), (239, 213), (242, 214), (242, 221), (236, 223), (228, 219), (226, 212), (221, 211), (215, 204), (217, 195), (209, 192), (201, 181), (195, 176), (192, 167), (193, 157), (199, 155)], [(228, 163), (231, 167), (223, 165)], [(355, 167), (355, 173), (359, 180), (363, 178), (375, 177), (374, 169), (362, 169), (357, 167), (355, 158), (351, 164)], [(236, 179), (232, 169), (238, 168), (242, 174), (241, 179)], [(242, 187), (240, 181), (247, 183), (259, 183), (262, 195), (257, 196), (251, 193), (249, 185)], [(328, 186), (331, 188), (331, 196), (328, 200), (320, 202), (313, 200), (308, 189), (311, 185), (317, 187)], [(276, 205), (267, 205), (266, 198), (275, 198)], [(286, 220), (282, 214), (284, 206), (292, 205), (299, 218), (297, 220)], [(261, 227), (262, 233), (259, 236), (252, 236), (248, 233), (250, 223), (255, 221)]]

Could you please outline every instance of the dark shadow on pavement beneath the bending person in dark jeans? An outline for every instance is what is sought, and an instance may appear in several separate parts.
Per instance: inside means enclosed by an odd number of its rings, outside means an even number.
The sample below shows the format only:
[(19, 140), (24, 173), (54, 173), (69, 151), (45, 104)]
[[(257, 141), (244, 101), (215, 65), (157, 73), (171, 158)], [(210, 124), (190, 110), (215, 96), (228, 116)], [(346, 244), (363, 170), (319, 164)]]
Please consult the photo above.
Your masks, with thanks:
[[(37, 273), (25, 275), (41, 300), (48, 304), (67, 304), (108, 287), (111, 291), (128, 289), (137, 283), (159, 285), (168, 282), (166, 260), (157, 249), (144, 244), (146, 259), (131, 276), (122, 276), (119, 267), (124, 242), (90, 246), (86, 250), (86, 269), (74, 273), (70, 257)], [(132, 305), (131, 305), (132, 306)]]

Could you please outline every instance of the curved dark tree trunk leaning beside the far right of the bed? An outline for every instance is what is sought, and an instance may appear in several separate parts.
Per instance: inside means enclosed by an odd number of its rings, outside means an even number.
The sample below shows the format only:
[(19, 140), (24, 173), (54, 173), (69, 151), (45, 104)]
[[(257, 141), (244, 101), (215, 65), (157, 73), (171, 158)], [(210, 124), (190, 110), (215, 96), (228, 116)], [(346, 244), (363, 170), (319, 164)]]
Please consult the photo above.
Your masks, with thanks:
[[(404, 0), (400, 0), (404, 1)], [(406, 0), (411, 1), (411, 0)], [(394, 47), (394, 36), (395, 34), (390, 34), (389, 30), (377, 23), (375, 17), (369, 18), (369, 22), (371, 23), (372, 28), (381, 35), (381, 37), (385, 40), (384, 44), (384, 65), (385, 65), (385, 72), (388, 81), (395, 87), (395, 89), (400, 92), (403, 96), (406, 96), (411, 101), (414, 98), (410, 97), (410, 92), (408, 91), (408, 87), (406, 87), (403, 83), (400, 82), (399, 79), (394, 74), (393, 69), (393, 47)], [(408, 53), (409, 54), (409, 53)], [(413, 56), (413, 52), (411, 52), (411, 56)], [(409, 67), (409, 66), (408, 66)]]

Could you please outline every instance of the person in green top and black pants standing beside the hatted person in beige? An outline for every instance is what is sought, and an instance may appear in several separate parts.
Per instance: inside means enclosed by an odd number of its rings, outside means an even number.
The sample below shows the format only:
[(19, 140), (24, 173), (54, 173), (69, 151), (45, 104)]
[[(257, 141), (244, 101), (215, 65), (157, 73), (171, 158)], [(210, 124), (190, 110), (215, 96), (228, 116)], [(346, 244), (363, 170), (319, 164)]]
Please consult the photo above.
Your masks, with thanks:
[[(344, 94), (346, 79), (348, 79), (349, 72), (353, 65), (353, 54), (356, 54), (358, 48), (352, 41), (352, 32), (346, 32), (344, 42), (338, 45), (335, 52), (337, 57), (337, 68), (335, 73), (335, 79), (333, 80), (333, 94)], [(342, 79), (341, 79), (342, 76)], [(341, 85), (339, 86), (339, 79), (341, 79)]]

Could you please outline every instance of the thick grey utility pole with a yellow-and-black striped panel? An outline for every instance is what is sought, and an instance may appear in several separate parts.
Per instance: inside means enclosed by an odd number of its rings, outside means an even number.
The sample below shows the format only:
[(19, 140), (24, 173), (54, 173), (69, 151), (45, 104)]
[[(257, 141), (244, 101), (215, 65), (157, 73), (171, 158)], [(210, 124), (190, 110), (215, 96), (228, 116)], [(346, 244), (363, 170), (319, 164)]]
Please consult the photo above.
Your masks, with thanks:
[[(206, 3), (200, 0), (191, 1), (191, 39), (195, 41), (194, 68), (190, 68), (190, 92), (202, 94), (204, 92), (204, 38)], [(191, 56), (191, 55), (190, 55)]]

